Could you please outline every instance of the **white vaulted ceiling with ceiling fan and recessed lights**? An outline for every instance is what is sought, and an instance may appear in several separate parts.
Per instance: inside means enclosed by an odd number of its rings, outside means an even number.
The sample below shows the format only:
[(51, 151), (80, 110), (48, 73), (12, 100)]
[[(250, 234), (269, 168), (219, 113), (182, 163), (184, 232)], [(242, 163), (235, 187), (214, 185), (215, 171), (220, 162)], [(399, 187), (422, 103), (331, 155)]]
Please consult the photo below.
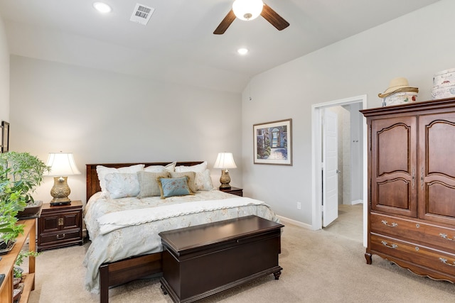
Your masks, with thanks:
[[(102, 1), (102, 0), (100, 0)], [(144, 26), (130, 21), (137, 1), (0, 0), (11, 54), (137, 77), (242, 92), (251, 77), (436, 0), (264, 0), (290, 26), (259, 16), (213, 31), (233, 0), (140, 0), (154, 8)], [(237, 48), (250, 50), (237, 54)]]

